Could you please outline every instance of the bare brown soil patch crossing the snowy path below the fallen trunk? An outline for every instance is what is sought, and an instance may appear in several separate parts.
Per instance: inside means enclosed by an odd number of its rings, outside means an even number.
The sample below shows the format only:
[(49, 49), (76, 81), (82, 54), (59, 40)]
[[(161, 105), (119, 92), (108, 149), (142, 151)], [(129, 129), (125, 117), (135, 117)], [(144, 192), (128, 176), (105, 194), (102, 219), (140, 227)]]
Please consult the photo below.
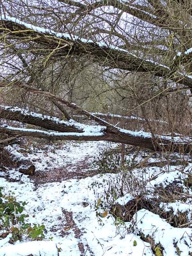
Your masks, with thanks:
[(85, 179), (87, 177), (92, 177), (99, 173), (98, 170), (86, 171), (90, 168), (90, 163), (88, 159), (85, 158), (75, 165), (70, 164), (67, 167), (54, 168), (48, 171), (36, 171), (30, 179), (34, 181), (35, 184), (45, 184), (48, 182), (61, 182), (70, 179)]

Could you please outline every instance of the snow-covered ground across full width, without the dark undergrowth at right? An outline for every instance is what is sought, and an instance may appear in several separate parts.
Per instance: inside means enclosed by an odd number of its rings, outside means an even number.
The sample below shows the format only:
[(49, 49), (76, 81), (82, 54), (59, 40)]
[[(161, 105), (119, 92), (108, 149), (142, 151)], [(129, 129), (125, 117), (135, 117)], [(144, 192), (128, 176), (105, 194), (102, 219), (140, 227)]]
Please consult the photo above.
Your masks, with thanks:
[[(37, 173), (46, 175), (51, 172), (53, 175), (54, 169), (58, 168), (60, 171), (67, 168), (68, 172), (91, 173), (95, 169), (91, 163), (107, 145), (106, 142), (67, 142), (62, 149), (54, 149), (52, 146), (44, 151), (31, 148), (25, 156), (34, 163)], [(19, 150), (19, 147), (15, 148)], [(84, 162), (85, 165), (82, 164)], [(153, 192), (159, 185), (166, 187), (178, 180), (180, 186), (185, 187), (183, 180), (187, 178), (190, 169), (190, 164), (182, 171), (179, 166), (148, 167), (145, 171), (134, 169), (130, 177), (144, 182), (147, 190)], [(10, 235), (1, 239), (2, 256), (192, 255), (190, 227), (173, 227), (146, 209), (138, 210), (131, 222), (117, 223), (109, 214), (110, 209), (107, 209), (104, 201), (109, 188), (118, 182), (120, 184), (119, 174), (97, 174), (81, 179), (64, 179), (61, 175), (57, 182), (43, 184), (37, 182), (38, 177), (35, 182), (15, 169), (0, 174), (0, 186), (5, 187), (5, 192), (12, 191), (18, 201), (28, 202), (25, 211), (29, 214), (29, 223), (44, 224), (46, 227), (43, 241), (24, 239), (10, 245)], [(7, 177), (12, 178), (13, 182), (7, 180)], [(127, 192), (117, 199), (117, 203), (123, 205), (133, 198), (134, 192)], [(178, 210), (187, 210), (190, 215), (191, 198), (189, 196), (183, 201), (162, 203), (160, 207), (165, 212), (173, 209), (175, 214)], [(191, 215), (188, 218), (190, 221)], [(141, 239), (142, 235), (145, 239)], [(163, 254), (160, 251), (162, 248)]]

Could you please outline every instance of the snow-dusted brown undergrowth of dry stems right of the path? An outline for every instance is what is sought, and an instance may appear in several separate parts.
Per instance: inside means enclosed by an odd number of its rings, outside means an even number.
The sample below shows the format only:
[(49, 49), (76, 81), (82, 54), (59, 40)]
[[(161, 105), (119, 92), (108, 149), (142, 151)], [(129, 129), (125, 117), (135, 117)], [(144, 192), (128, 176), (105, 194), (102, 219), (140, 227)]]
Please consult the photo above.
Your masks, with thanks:
[[(132, 152), (130, 155), (127, 155), (127, 160), (123, 167), (120, 165), (121, 158), (118, 147), (115, 149), (105, 149), (99, 155), (95, 163), (98, 165), (100, 173), (117, 173), (115, 180), (108, 184), (108, 191), (105, 191), (105, 196), (96, 202), (95, 210), (100, 223), (102, 223), (102, 218), (106, 217), (106, 212), (111, 212), (116, 220), (115, 223), (120, 225), (124, 222), (130, 222), (138, 210), (145, 208), (158, 214), (162, 219), (166, 219), (174, 227), (189, 227), (192, 224), (188, 211), (177, 211), (175, 213), (171, 207), (166, 210), (164, 208), (165, 204), (184, 203), (187, 200), (186, 193), (189, 193), (192, 187), (192, 175), (190, 171), (187, 172), (187, 176), (185, 173), (187, 167), (185, 159), (188, 159), (189, 156), (185, 157), (180, 154), (180, 156), (175, 157), (174, 154), (155, 154), (158, 172), (149, 178), (147, 162), (143, 161), (143, 158), (147, 158), (149, 153), (142, 150)], [(177, 164), (179, 158), (181, 160), (179, 165), (176, 166), (174, 163), (176, 161)], [(162, 162), (165, 163), (164, 166), (159, 165)], [(149, 166), (151, 166), (151, 163)], [(150, 181), (157, 179), (162, 173), (169, 173), (172, 164), (175, 166), (175, 169), (185, 173), (186, 178), (181, 176), (180, 179), (169, 183), (167, 186), (159, 183), (155, 187), (150, 187)], [(186, 196), (184, 196), (184, 192)], [(131, 195), (133, 199), (123, 206), (116, 203), (117, 198), (124, 197), (125, 195)]]

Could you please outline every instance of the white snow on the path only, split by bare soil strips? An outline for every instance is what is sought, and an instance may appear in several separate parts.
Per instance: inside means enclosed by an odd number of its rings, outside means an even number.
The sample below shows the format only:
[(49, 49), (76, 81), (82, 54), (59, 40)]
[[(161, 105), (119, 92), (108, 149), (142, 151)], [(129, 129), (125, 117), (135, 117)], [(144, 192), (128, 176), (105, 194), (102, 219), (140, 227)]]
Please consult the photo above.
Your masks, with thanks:
[[(104, 147), (106, 142), (95, 143), (76, 143), (76, 146), (68, 152), (63, 149), (63, 156), (68, 154), (68, 158), (73, 163), (78, 163), (80, 158), (86, 155), (95, 157), (95, 151), (100, 147)], [(61, 150), (60, 154), (61, 154)], [(47, 151), (45, 154), (52, 156), (51, 152)], [(61, 158), (57, 156), (58, 150), (54, 154), (55, 158)], [(86, 154), (85, 154), (86, 153)], [(71, 157), (70, 157), (71, 154)], [(28, 157), (32, 155), (29, 154)], [(42, 159), (42, 163), (37, 166), (37, 170), (40, 168), (45, 169), (47, 166), (52, 167), (50, 163), (47, 163), (47, 159), (44, 159), (42, 153), (37, 153), (36, 157)], [(66, 160), (66, 157), (64, 157)], [(50, 158), (51, 161), (51, 158)], [(44, 164), (47, 163), (45, 166)], [(54, 163), (56, 165), (56, 163)], [(60, 165), (63, 165), (61, 162)], [(61, 230), (65, 226), (66, 219), (63, 216), (63, 209), (68, 212), (73, 212), (73, 218), (78, 228), (84, 231), (81, 236), (81, 241), (84, 245), (88, 244), (94, 255), (125, 255), (125, 253), (132, 253), (133, 256), (142, 255), (145, 252), (146, 255), (151, 255), (151, 250), (146, 243), (141, 241), (133, 234), (128, 234), (125, 238), (121, 238), (121, 234), (117, 234), (117, 227), (114, 224), (114, 218), (108, 214), (107, 218), (103, 218), (102, 225), (99, 224), (95, 215), (95, 204), (99, 198), (105, 195), (105, 187), (108, 187), (108, 183), (114, 182), (115, 174), (105, 174), (104, 176), (88, 177), (81, 180), (67, 180), (61, 182), (47, 183), (39, 185), (35, 188), (34, 183), (21, 173), (15, 173), (10, 171), (10, 177), (18, 178), (21, 184), (16, 182), (8, 182), (4, 178), (1, 178), (0, 185), (5, 186), (6, 191), (14, 191), (15, 196), (19, 200), (27, 201), (26, 212), (30, 215), (30, 223), (45, 224), (47, 228), (46, 239), (47, 241), (34, 241), (34, 242), (21, 242), (16, 245), (9, 245), (6, 239), (6, 245), (0, 248), (0, 255), (4, 256), (18, 256), (28, 255), (30, 253), (34, 255), (57, 255), (56, 245), (61, 248), (60, 256), (65, 255), (79, 255), (78, 241), (75, 237), (74, 229), (71, 228), (68, 231), (68, 235), (64, 237), (61, 235)], [(88, 205), (84, 207), (83, 202)], [(51, 228), (57, 226), (56, 230), (51, 232)], [(53, 241), (49, 241), (49, 237), (53, 237)], [(136, 240), (138, 247), (133, 246), (133, 241)], [(23, 253), (23, 254), (22, 254)], [(91, 255), (87, 252), (86, 255)]]

